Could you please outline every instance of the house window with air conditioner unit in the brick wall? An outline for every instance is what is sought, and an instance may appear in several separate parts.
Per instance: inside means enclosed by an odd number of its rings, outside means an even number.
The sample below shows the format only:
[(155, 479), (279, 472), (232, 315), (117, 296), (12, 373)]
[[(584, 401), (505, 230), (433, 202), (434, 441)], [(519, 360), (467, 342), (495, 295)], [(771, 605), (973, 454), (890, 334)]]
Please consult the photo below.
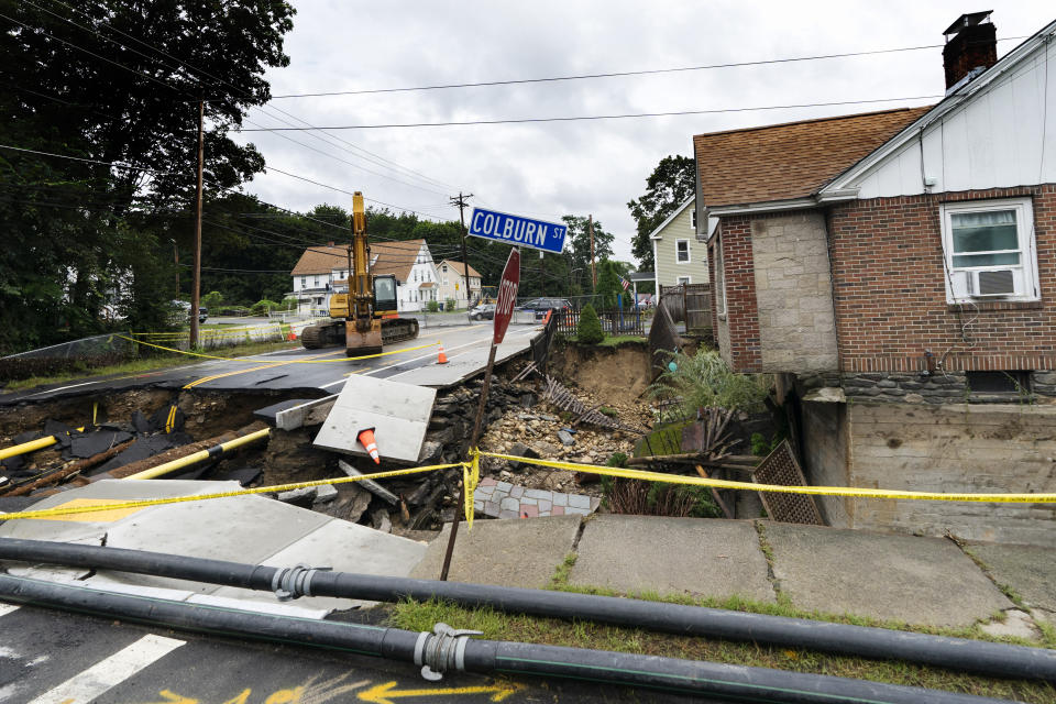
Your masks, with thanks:
[(1028, 198), (942, 206), (946, 300), (1037, 300), (1034, 211)]

